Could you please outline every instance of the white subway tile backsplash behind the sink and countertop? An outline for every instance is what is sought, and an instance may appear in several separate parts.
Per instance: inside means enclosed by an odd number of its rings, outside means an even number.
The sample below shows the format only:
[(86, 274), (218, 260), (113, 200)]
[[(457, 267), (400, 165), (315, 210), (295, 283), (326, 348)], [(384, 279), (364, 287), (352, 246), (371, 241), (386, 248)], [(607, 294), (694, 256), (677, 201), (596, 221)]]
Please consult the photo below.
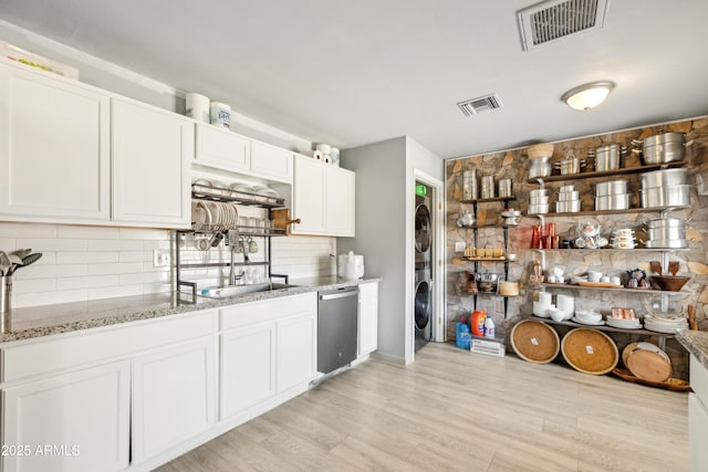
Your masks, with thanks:
[[(246, 214), (246, 213), (244, 213)], [(174, 290), (175, 233), (150, 228), (103, 228), (0, 222), (0, 249), (31, 248), (42, 259), (17, 271), (12, 306), (25, 307), (82, 302), (115, 296), (164, 293)], [(263, 261), (266, 244), (257, 239), (252, 262)], [(187, 263), (229, 262), (230, 248), (207, 252), (195, 248), (194, 238), (183, 242)], [(154, 268), (153, 251), (168, 251), (173, 266)], [(291, 279), (336, 273), (334, 238), (291, 237), (272, 239), (272, 272)], [(236, 254), (237, 262), (243, 254)], [(264, 274), (264, 268), (253, 265)], [(243, 268), (237, 268), (240, 271)], [(183, 279), (200, 287), (228, 282), (229, 268), (190, 269)]]

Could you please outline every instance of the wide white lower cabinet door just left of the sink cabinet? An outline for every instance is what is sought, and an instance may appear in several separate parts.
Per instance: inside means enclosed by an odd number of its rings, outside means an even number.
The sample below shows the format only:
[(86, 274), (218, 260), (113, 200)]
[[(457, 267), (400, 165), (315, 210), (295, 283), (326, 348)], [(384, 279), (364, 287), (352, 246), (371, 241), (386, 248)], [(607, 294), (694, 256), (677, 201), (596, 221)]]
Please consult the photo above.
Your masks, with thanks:
[(215, 423), (216, 364), (212, 336), (134, 359), (134, 461), (156, 455)]

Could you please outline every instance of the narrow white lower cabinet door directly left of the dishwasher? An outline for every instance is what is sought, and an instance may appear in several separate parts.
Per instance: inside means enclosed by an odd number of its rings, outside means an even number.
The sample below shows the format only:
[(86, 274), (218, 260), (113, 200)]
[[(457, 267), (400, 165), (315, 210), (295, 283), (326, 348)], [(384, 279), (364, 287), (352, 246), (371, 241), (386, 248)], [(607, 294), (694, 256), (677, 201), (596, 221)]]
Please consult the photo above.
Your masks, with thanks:
[(316, 313), (278, 323), (278, 392), (306, 384), (317, 375)]

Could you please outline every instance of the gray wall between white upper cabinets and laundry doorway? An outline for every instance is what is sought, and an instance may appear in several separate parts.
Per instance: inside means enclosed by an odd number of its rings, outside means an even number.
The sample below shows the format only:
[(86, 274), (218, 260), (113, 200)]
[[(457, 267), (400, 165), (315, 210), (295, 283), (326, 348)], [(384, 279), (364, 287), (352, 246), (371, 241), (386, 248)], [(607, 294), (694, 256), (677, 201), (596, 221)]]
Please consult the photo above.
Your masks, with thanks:
[(364, 255), (367, 276), (379, 276), (378, 354), (413, 360), (414, 168), (442, 181), (444, 164), (409, 137), (342, 151), (356, 172), (356, 237), (339, 238), (340, 254)]

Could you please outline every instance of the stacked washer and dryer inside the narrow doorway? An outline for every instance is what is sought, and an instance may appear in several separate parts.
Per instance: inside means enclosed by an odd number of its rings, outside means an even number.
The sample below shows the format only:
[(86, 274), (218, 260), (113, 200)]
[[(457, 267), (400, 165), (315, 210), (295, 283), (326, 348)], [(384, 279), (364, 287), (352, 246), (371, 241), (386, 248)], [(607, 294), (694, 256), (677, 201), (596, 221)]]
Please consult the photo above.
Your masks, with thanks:
[(415, 349), (433, 339), (433, 248), (434, 229), (430, 217), (431, 188), (416, 182), (415, 214)]

